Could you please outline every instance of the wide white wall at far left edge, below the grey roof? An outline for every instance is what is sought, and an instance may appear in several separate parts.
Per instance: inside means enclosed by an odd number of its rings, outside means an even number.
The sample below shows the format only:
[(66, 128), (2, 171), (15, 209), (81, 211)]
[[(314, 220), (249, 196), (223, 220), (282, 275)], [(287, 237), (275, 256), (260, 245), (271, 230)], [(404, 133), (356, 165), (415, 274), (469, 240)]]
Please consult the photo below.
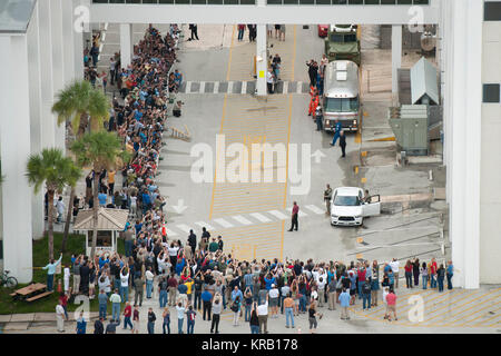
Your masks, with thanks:
[(26, 164), (31, 150), (28, 44), (26, 36), (0, 36), (0, 141), (3, 268), (20, 283), (32, 278), (31, 191)]

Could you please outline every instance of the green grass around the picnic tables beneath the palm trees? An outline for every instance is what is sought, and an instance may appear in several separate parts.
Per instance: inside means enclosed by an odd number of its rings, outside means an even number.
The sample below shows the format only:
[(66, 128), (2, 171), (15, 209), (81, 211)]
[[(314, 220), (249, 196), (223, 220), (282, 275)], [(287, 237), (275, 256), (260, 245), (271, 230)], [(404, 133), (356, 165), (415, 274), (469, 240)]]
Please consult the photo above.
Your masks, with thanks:
[[(60, 248), (62, 243), (62, 234), (53, 234), (53, 255), (55, 258), (59, 258)], [(85, 235), (70, 234), (67, 241), (67, 251), (62, 255), (62, 266), (71, 265), (71, 255), (85, 254), (86, 237)], [(118, 240), (118, 253), (125, 254), (124, 240)], [(33, 241), (33, 283), (47, 284), (47, 270), (41, 269), (49, 261), (49, 238), (46, 235), (42, 239)], [(16, 276), (14, 276), (16, 277)], [(7, 287), (0, 288), (0, 315), (4, 314), (27, 314), (27, 313), (55, 313), (56, 305), (59, 300), (59, 294), (57, 293), (58, 279), (62, 283), (62, 269), (60, 275), (55, 275), (55, 293), (45, 298), (28, 303), (23, 300), (13, 300), (10, 296), (13, 289)], [(26, 287), (28, 284), (19, 284), (16, 289)], [(70, 280), (70, 286), (72, 280)], [(99, 293), (96, 283), (96, 294)], [(89, 300), (90, 312), (98, 312), (99, 304), (97, 298)], [(75, 312), (80, 304), (68, 303), (68, 312)], [(108, 305), (108, 314), (111, 312), (111, 304)]]

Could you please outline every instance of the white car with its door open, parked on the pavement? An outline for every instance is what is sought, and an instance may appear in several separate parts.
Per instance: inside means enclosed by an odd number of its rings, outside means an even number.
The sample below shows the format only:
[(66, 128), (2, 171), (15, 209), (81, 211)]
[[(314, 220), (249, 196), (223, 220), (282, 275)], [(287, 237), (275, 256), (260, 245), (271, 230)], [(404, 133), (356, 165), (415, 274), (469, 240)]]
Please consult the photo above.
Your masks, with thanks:
[(380, 214), (380, 196), (366, 198), (361, 188), (341, 187), (335, 189), (332, 195), (331, 225), (361, 226), (364, 222), (364, 217), (377, 216)]

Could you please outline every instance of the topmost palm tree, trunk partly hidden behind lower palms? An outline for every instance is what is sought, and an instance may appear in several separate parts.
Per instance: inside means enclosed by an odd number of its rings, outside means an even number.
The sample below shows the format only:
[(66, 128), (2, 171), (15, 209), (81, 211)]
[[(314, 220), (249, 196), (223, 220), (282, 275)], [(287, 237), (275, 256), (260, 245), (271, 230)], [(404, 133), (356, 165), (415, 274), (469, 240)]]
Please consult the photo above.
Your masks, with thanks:
[[(70, 121), (73, 135), (76, 134), (77, 138), (81, 138), (89, 121), (92, 131), (102, 129), (104, 121), (109, 117), (109, 108), (106, 96), (100, 90), (94, 89), (88, 81), (81, 80), (70, 83), (58, 93), (57, 101), (52, 106), (52, 112), (58, 116), (58, 125)], [(77, 129), (77, 132), (75, 132), (75, 129)], [(66, 250), (75, 196), (75, 187), (71, 187), (61, 251)]]

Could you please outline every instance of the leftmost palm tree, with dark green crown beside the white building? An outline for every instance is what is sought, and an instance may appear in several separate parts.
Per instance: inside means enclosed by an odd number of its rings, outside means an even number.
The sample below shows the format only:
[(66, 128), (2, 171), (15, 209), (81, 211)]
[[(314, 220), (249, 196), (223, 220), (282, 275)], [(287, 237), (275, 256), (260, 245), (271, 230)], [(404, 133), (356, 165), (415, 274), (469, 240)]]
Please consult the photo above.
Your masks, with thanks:
[(46, 148), (40, 154), (31, 155), (27, 165), (27, 177), (35, 185), (35, 192), (46, 184), (49, 204), (49, 259), (53, 258), (53, 195), (62, 191), (65, 186), (75, 186), (81, 176), (71, 158), (65, 157), (58, 148)]

